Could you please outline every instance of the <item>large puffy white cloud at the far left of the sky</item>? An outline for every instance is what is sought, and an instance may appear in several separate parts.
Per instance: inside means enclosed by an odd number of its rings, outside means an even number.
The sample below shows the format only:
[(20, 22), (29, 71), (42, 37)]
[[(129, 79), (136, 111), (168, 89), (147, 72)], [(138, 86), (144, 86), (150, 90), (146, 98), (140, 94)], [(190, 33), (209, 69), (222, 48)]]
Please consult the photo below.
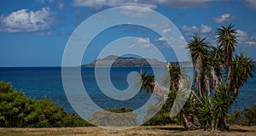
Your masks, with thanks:
[(4, 32), (44, 31), (50, 28), (53, 20), (49, 8), (35, 12), (20, 9), (9, 15), (2, 14), (0, 19), (0, 31)]

